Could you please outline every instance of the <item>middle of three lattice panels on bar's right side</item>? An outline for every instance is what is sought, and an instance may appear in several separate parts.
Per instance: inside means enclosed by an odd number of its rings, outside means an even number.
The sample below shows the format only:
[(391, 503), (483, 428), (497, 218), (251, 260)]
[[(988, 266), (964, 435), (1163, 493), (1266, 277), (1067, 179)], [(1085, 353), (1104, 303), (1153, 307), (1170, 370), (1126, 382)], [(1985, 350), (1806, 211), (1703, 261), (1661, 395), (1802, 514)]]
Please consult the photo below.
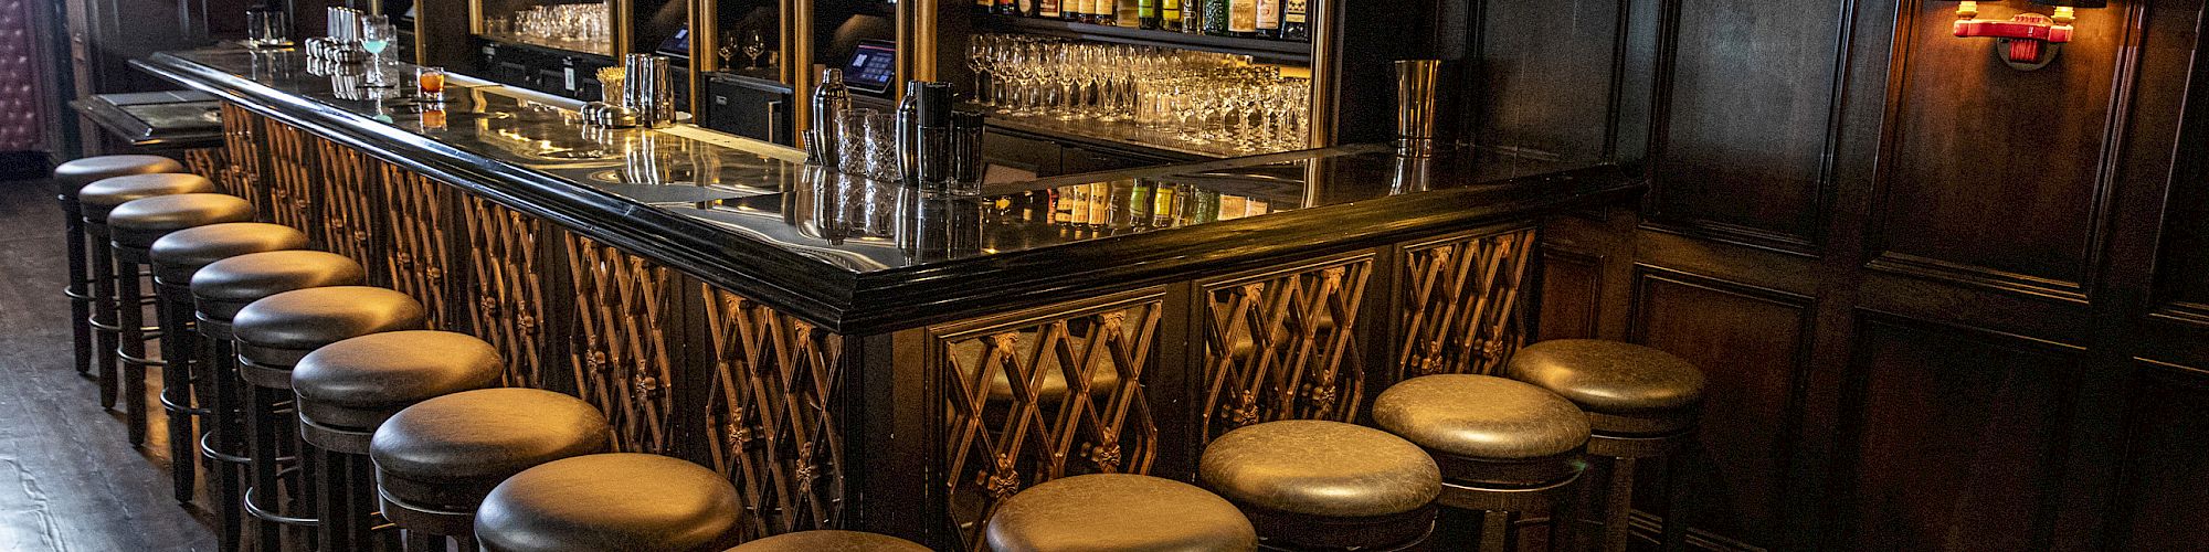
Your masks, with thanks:
[(1372, 256), (1204, 285), (1204, 437), (1272, 420), (1354, 422)]

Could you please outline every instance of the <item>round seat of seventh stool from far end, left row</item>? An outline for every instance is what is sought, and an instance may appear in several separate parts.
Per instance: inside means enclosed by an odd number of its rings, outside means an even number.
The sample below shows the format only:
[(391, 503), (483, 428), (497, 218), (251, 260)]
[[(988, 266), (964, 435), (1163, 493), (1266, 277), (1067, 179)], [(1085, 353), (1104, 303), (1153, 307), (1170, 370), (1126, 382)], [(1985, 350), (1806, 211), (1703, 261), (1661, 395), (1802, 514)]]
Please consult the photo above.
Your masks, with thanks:
[(300, 415), (373, 428), (409, 404), (499, 384), (499, 349), (453, 331), (384, 331), (314, 349), (292, 367)]

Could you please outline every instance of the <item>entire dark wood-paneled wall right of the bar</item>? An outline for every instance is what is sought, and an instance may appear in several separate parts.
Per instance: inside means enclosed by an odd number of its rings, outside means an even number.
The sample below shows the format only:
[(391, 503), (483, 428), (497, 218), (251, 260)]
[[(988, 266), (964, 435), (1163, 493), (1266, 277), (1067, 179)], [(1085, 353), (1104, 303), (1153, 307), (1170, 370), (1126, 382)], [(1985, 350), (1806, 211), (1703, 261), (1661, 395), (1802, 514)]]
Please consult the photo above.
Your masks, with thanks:
[[(1981, 18), (2026, 9), (2048, 11)], [(1953, 38), (1953, 11), (1480, 11), (1476, 141), (1641, 161), (1652, 181), (1639, 212), (1551, 225), (1537, 331), (1708, 371), (1697, 545), (2209, 537), (2202, 0), (2081, 9), (2076, 42), (2032, 73)]]

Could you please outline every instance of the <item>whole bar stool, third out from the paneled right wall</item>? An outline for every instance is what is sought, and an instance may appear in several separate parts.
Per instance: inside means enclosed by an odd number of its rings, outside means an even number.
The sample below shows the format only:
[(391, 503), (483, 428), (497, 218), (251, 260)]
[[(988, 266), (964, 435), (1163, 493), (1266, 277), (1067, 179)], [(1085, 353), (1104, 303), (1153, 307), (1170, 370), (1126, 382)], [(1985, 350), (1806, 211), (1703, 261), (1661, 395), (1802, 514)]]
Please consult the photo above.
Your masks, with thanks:
[(1228, 431), (1204, 446), (1197, 475), (1250, 517), (1268, 550), (1414, 550), (1442, 492), (1427, 450), (1323, 420)]

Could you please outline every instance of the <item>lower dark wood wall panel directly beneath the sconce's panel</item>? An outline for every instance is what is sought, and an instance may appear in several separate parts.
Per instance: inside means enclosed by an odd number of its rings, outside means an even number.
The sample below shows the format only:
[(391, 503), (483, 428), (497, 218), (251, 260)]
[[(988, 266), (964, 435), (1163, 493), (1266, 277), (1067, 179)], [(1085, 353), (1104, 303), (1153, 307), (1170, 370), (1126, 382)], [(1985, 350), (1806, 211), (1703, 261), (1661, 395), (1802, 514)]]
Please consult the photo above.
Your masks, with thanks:
[(2076, 351), (1864, 316), (1840, 426), (1836, 545), (2030, 550)]

